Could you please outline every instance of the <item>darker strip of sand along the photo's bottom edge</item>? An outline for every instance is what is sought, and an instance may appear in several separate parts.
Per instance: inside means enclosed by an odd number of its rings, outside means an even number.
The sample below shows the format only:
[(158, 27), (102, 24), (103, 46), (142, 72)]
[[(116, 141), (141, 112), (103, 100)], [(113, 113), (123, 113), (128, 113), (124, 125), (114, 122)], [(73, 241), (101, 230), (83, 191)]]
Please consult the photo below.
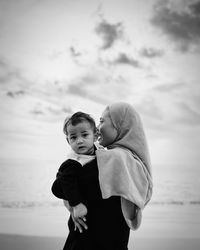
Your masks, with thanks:
[[(62, 249), (64, 238), (59, 237), (40, 237), (24, 235), (0, 235), (1, 250), (56, 250)], [(137, 250), (167, 250), (167, 249), (187, 249), (199, 250), (200, 241), (197, 239), (140, 239), (130, 244), (129, 249)], [(94, 249), (95, 250), (95, 249)]]

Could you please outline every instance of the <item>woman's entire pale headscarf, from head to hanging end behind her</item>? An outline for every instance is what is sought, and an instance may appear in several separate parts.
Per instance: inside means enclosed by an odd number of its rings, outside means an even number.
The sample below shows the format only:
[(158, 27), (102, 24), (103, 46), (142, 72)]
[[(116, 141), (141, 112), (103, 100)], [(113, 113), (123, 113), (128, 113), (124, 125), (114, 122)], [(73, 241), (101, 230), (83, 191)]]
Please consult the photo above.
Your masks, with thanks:
[[(122, 212), (127, 224), (136, 230), (141, 223), (142, 209), (152, 196), (152, 176), (149, 150), (139, 114), (128, 103), (107, 107), (118, 132), (108, 150), (96, 151), (99, 182), (103, 198), (121, 196)], [(129, 218), (138, 208), (137, 216)]]

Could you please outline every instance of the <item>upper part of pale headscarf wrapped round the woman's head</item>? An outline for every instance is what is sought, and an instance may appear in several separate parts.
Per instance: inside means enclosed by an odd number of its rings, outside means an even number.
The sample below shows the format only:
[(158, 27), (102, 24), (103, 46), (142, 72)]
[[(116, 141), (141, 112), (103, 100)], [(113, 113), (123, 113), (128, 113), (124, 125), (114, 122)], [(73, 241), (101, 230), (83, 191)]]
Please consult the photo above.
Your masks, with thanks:
[(124, 147), (138, 156), (151, 174), (146, 136), (139, 114), (128, 103), (118, 102), (107, 107), (118, 136), (110, 148)]

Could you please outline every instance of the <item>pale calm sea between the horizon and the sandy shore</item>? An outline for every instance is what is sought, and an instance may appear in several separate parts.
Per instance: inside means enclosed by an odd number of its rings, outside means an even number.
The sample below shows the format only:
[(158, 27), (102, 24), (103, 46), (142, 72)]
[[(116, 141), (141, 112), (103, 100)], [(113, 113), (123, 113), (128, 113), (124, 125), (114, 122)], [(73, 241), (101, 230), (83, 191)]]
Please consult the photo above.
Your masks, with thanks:
[[(63, 206), (51, 193), (60, 160), (0, 159), (0, 207)], [(150, 205), (200, 205), (197, 166), (155, 165)]]

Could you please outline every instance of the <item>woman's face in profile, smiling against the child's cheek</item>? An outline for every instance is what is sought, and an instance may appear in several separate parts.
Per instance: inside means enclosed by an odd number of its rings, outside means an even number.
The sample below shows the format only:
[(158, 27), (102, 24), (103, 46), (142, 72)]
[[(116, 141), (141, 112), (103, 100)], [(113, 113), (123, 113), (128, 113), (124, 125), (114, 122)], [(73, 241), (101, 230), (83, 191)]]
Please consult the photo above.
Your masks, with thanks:
[(108, 109), (103, 112), (97, 128), (99, 131), (98, 141), (103, 147), (111, 145), (116, 140), (118, 133), (112, 124)]

